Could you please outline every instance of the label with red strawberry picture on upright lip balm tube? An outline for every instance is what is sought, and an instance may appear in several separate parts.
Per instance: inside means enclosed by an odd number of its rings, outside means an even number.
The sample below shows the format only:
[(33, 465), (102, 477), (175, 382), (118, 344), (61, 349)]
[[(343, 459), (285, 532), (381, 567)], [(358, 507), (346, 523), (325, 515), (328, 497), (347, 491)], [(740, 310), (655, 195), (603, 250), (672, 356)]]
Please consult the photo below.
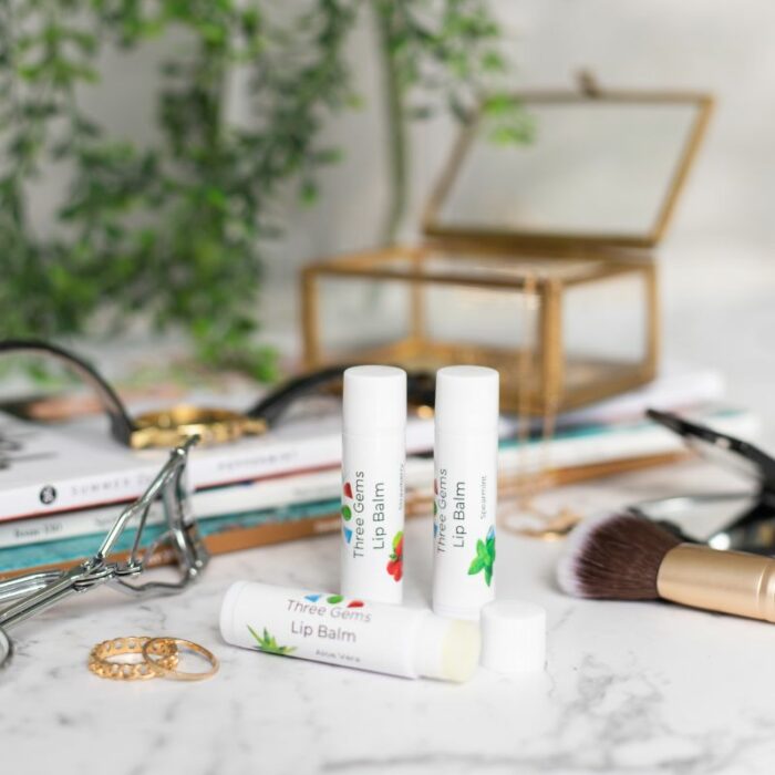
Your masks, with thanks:
[(400, 602), (404, 542), (403, 434), (347, 438), (342, 466), (342, 591)]

